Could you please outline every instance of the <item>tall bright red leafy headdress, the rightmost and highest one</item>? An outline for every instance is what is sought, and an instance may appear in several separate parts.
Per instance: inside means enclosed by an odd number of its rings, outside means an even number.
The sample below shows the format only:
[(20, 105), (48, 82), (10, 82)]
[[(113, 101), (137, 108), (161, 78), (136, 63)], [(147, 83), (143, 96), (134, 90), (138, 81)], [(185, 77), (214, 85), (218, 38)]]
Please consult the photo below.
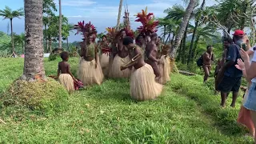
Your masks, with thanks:
[(138, 18), (135, 22), (142, 22), (142, 26), (137, 28), (140, 34), (149, 35), (158, 31), (156, 27), (159, 22), (154, 21), (153, 13), (147, 14), (147, 7), (146, 10), (142, 10), (142, 13), (138, 13), (135, 16)]

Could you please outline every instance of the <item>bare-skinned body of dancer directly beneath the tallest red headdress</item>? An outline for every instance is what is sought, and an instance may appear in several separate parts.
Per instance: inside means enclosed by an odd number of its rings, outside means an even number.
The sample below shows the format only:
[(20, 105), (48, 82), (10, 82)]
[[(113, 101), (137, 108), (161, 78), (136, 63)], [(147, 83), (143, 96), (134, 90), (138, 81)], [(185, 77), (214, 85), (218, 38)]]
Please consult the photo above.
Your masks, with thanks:
[(145, 51), (146, 63), (152, 66), (154, 70), (154, 75), (156, 77), (155, 79), (157, 82), (159, 82), (162, 75), (158, 68), (158, 63), (160, 63), (160, 60), (157, 58), (158, 57), (158, 47), (157, 47), (158, 34), (156, 33), (151, 34), (150, 39), (151, 41), (146, 45), (146, 51)]

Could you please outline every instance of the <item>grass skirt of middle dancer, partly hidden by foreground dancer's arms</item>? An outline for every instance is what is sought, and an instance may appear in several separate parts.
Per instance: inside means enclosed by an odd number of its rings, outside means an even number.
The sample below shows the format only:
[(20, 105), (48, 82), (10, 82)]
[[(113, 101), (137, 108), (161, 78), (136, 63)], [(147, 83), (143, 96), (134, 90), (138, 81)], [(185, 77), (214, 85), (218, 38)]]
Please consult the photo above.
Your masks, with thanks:
[(120, 67), (124, 66), (127, 62), (130, 62), (129, 56), (126, 58), (121, 58), (118, 54), (114, 57), (112, 62), (109, 77), (110, 78), (129, 78), (131, 70), (127, 68), (126, 70), (121, 70)]

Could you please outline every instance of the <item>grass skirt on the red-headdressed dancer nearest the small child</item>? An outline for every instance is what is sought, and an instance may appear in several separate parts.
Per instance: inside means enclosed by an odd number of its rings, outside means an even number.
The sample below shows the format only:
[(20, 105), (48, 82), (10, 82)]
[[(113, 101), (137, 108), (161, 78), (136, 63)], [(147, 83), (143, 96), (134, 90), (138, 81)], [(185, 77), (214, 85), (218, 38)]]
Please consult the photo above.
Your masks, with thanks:
[(103, 82), (102, 67), (98, 62), (97, 68), (95, 68), (95, 63), (95, 59), (90, 62), (82, 59), (80, 62), (78, 79), (82, 81), (84, 86), (100, 85)]

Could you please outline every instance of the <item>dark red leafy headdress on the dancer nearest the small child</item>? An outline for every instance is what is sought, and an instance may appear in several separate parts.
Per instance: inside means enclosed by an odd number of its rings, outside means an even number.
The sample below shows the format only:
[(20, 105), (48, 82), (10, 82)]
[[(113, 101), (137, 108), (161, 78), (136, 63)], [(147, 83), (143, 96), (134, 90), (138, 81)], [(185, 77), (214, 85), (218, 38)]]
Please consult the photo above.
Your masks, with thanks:
[(90, 36), (93, 36), (94, 39), (97, 35), (97, 30), (95, 29), (95, 26), (92, 25), (90, 22), (85, 24), (85, 21), (78, 22), (78, 25), (74, 25), (74, 30), (77, 30), (76, 34), (82, 33), (82, 36), (84, 38), (89, 38)]

